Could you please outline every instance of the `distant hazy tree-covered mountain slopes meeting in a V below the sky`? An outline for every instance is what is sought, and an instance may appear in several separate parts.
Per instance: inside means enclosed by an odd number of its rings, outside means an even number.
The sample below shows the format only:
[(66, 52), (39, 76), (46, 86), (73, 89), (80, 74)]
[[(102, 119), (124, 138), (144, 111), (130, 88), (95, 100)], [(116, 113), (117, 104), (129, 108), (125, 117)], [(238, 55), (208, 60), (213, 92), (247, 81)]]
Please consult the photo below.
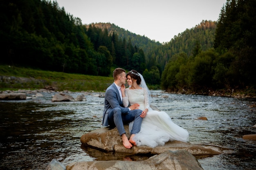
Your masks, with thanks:
[[(92, 23), (86, 25), (86, 27), (95, 26), (101, 30), (107, 29), (110, 35), (114, 33), (121, 39), (129, 40), (133, 45), (143, 49), (146, 57), (145, 79), (150, 84), (159, 84), (162, 71), (173, 55), (181, 52), (188, 56), (196, 55), (200, 51), (213, 48), (216, 24), (215, 21), (203, 20), (194, 28), (186, 29), (165, 44), (152, 41), (145, 36), (136, 35), (115, 24)], [(156, 74), (155, 77), (157, 78), (152, 79), (150, 76), (153, 74)]]

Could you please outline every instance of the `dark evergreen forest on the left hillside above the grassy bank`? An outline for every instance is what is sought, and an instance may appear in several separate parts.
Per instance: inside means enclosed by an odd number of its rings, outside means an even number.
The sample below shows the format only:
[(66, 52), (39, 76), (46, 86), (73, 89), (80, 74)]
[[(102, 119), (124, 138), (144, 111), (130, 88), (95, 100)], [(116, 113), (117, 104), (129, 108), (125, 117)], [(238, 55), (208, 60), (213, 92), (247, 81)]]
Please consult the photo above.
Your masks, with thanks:
[(113, 65), (145, 69), (141, 49), (106, 29), (86, 29), (56, 1), (1, 1), (1, 8), (1, 64), (101, 76)]

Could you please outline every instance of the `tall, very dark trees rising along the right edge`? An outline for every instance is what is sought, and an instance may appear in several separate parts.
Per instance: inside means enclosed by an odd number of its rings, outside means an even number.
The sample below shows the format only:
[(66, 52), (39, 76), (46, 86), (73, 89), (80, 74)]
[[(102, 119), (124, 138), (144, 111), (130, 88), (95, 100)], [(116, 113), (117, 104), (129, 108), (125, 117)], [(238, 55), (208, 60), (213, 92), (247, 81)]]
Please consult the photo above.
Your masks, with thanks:
[[(236, 56), (229, 67), (229, 86), (255, 86), (256, 79), (256, 1), (228, 0), (222, 8), (214, 48)], [(225, 65), (225, 64), (224, 64)], [(234, 78), (236, 77), (236, 78)], [(233, 81), (234, 80), (234, 81)]]

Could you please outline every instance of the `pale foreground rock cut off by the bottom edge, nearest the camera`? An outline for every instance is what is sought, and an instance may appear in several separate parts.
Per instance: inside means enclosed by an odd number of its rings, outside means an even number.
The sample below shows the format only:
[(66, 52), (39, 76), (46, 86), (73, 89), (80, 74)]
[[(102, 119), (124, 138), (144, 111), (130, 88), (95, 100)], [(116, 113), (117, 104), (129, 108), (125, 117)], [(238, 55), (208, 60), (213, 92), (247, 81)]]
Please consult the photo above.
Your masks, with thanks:
[(66, 170), (203, 170), (191, 153), (185, 150), (165, 152), (144, 161), (81, 161)]

